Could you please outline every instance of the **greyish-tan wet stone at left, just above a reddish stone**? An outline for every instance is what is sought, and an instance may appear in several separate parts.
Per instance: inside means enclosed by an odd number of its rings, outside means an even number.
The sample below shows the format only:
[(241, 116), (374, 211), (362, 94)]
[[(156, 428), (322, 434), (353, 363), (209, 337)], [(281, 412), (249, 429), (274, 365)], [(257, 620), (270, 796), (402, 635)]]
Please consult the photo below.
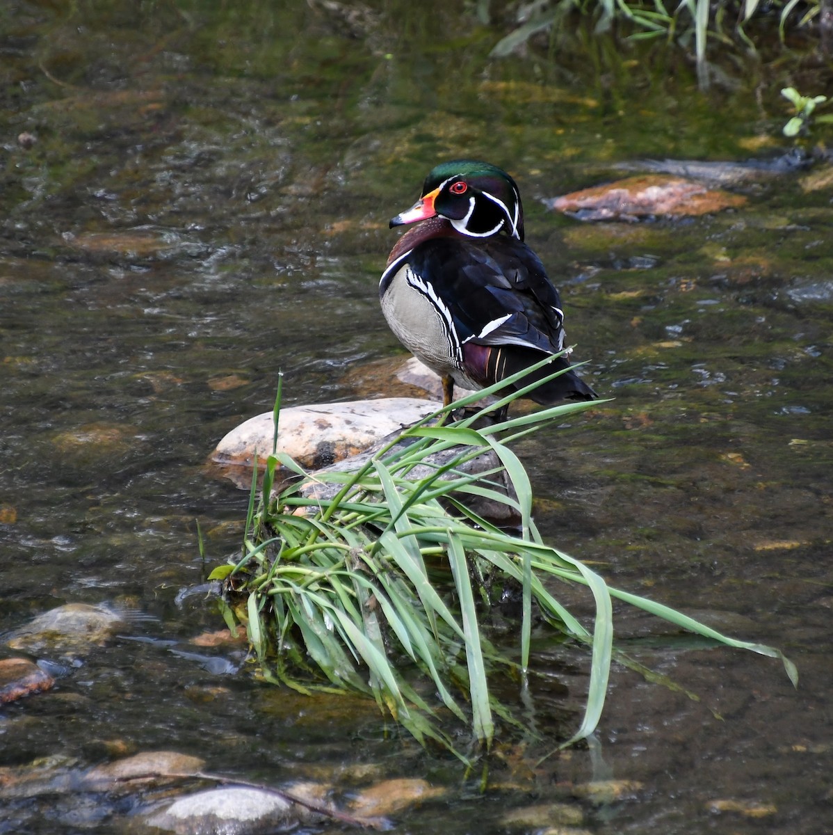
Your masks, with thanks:
[(68, 603), (14, 630), (7, 644), (32, 655), (77, 657), (102, 646), (123, 623), (120, 615), (104, 606)]

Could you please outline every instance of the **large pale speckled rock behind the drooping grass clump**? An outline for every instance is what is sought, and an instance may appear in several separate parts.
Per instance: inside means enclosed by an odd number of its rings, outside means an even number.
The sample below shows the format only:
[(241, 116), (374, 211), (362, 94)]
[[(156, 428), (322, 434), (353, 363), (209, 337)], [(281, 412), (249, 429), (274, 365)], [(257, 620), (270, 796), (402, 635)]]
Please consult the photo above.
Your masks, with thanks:
[[(440, 405), (415, 397), (381, 397), (285, 408), (280, 412), (278, 451), (307, 469), (329, 467), (436, 412)], [(211, 459), (220, 465), (251, 466), (255, 452), (261, 461), (271, 454), (274, 433), (272, 412), (251, 417), (217, 444)]]

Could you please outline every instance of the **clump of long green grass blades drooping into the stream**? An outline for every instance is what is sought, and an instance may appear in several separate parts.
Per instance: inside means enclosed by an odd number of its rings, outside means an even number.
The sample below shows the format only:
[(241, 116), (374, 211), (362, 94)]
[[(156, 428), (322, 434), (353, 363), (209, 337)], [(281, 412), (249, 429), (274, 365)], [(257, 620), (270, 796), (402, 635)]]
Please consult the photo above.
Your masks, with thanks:
[[(482, 746), (492, 741), (497, 721), (519, 724), (492, 696), (492, 684), (508, 668), (523, 680), (534, 607), (554, 630), (585, 645), (590, 656), (583, 719), (566, 746), (591, 734), (602, 713), (614, 656), (615, 598), (697, 635), (780, 658), (796, 681), (795, 666), (779, 650), (721, 635), (667, 606), (614, 589), (581, 560), (543, 542), (532, 517), (532, 486), (509, 445), (595, 404), (568, 403), (482, 423), (487, 412), (541, 382), (451, 421), (452, 410), (497, 387), (463, 397), (391, 438), (353, 472), (305, 473), (273, 448), (260, 500), (256, 473), (252, 482), (242, 557), (212, 573), (225, 582), (226, 620), (245, 623), (265, 680), (303, 692), (365, 693), (417, 740), (432, 738), (465, 758), (447, 731), (449, 714), (467, 724)], [(275, 443), (279, 415), (280, 385)], [(442, 419), (451, 422), (438, 425)], [(484, 453), (494, 466), (466, 472), (466, 463)], [(279, 466), (300, 480), (273, 494)], [(416, 468), (428, 474), (415, 477)], [(502, 477), (511, 481), (513, 494), (502, 488)], [(305, 493), (310, 484), (330, 485), (331, 498), (320, 498), (321, 489), (319, 498)], [(517, 532), (499, 529), (472, 509), (484, 498), (517, 514)], [(447, 563), (450, 580), (447, 574), (439, 582), (432, 577), (438, 561)], [(501, 655), (482, 627), (487, 574), (522, 590), (519, 664)], [(582, 584), (592, 592), (592, 627), (559, 602), (553, 591), (559, 583)], [(411, 683), (414, 667), (436, 699)]]

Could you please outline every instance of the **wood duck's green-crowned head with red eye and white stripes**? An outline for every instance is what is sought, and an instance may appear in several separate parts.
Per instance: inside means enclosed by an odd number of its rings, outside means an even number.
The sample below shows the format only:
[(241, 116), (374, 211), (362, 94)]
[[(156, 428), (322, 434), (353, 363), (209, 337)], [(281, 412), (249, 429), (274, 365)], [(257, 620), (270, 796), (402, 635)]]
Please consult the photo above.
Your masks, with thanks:
[(391, 219), (391, 226), (439, 215), (472, 238), (506, 232), (523, 240), (523, 206), (517, 185), (506, 171), (476, 159), (454, 159), (432, 170), (422, 197)]

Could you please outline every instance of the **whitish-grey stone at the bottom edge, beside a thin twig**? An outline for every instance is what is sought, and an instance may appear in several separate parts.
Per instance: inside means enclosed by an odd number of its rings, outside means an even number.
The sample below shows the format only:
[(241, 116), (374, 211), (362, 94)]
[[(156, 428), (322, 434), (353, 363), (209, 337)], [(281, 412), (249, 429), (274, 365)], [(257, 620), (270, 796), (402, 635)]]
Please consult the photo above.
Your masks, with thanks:
[(149, 827), (192, 835), (258, 835), (320, 816), (262, 789), (224, 787), (180, 797), (148, 818)]

